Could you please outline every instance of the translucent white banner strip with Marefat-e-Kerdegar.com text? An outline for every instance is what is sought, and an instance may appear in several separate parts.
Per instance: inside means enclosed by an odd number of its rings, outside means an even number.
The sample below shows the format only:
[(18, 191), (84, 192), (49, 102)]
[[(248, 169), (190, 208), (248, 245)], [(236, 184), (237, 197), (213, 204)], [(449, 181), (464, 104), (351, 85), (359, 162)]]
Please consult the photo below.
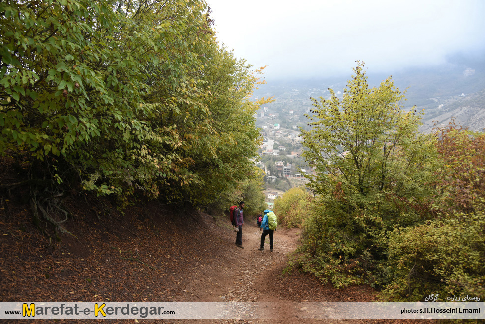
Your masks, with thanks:
[(484, 302), (0, 302), (0, 319), (485, 319)]

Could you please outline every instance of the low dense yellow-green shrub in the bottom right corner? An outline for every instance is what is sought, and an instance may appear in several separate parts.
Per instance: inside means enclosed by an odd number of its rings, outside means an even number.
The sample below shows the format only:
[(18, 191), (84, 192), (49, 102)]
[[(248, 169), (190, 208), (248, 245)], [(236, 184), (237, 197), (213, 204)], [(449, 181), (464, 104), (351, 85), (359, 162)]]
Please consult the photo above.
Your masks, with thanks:
[(485, 299), (485, 213), (394, 230), (389, 241), (390, 300), (423, 300), (431, 293)]

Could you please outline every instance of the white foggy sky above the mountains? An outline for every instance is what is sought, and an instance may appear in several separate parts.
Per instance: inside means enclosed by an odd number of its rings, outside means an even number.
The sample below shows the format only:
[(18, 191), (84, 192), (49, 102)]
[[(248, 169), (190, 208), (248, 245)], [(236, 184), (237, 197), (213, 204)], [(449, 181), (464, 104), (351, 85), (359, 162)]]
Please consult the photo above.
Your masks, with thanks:
[(217, 38), (266, 79), (438, 65), (485, 54), (483, 0), (206, 0)]

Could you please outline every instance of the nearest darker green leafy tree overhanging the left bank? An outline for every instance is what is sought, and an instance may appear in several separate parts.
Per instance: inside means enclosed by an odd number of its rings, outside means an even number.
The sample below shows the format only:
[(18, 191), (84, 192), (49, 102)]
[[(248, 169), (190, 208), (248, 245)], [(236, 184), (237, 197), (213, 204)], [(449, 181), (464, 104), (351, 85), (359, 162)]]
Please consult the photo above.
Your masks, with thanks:
[[(2, 152), (67, 162), (99, 194), (156, 196), (155, 178), (189, 180), (172, 167), (184, 163), (174, 150), (183, 137), (158, 118), (181, 114), (177, 103), (203, 108), (193, 101), (207, 91), (190, 73), (204, 65), (193, 45), (195, 31), (209, 28), (201, 3), (1, 5)], [(157, 87), (169, 90), (163, 100)]]

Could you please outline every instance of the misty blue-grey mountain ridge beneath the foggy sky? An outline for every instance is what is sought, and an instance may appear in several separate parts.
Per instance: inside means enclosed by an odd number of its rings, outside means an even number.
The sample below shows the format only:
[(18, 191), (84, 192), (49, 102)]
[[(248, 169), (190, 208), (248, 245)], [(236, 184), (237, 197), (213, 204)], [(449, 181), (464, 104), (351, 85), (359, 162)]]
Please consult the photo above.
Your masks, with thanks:
[[(328, 96), (327, 88), (341, 91), (350, 76), (271, 81), (257, 90), (255, 96), (275, 96), (281, 101), (288, 99), (285, 96), (294, 88), (308, 94), (309, 104), (309, 97)], [(389, 74), (367, 70), (367, 76), (371, 86), (377, 86), (392, 76), (395, 85), (406, 91), (404, 107), (416, 105), (424, 109), (422, 132), (430, 132), (434, 121), (439, 125), (448, 124), (452, 117), (455, 117), (456, 123), (471, 130), (485, 129), (485, 55), (454, 55), (442, 65), (408, 68)], [(306, 106), (306, 102), (303, 103)]]

